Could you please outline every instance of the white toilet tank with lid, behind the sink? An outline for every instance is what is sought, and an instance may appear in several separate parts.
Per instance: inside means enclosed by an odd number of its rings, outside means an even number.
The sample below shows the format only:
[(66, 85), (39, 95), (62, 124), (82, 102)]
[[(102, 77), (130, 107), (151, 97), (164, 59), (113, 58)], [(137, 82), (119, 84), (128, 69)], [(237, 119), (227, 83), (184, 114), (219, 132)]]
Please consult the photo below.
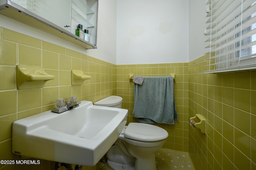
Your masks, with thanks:
[(95, 102), (94, 105), (122, 108), (122, 101), (123, 101), (123, 98), (119, 96), (109, 96), (107, 98), (99, 100), (98, 102)]

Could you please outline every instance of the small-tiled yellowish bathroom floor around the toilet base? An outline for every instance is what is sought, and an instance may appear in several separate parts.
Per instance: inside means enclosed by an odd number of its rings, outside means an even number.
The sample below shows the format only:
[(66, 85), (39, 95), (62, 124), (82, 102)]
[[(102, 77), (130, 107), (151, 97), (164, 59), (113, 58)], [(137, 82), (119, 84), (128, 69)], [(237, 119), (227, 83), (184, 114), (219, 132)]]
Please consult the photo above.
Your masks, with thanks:
[[(160, 149), (156, 152), (156, 168), (158, 170), (194, 170), (188, 153)], [(102, 164), (99, 170), (111, 170)]]

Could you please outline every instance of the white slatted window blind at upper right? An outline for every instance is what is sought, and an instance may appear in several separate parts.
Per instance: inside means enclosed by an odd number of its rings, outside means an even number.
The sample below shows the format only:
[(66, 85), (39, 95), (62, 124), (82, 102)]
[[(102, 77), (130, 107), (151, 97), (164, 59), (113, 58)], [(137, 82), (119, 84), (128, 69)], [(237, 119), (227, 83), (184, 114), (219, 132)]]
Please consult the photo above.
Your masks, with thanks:
[(206, 0), (204, 73), (256, 69), (256, 0)]

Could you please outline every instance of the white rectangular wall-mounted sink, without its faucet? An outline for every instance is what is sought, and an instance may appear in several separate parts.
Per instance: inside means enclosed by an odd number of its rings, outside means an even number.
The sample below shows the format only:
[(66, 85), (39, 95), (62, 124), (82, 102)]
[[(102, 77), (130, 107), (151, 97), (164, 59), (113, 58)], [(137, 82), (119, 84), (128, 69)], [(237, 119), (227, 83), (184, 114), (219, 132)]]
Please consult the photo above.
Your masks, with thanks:
[(12, 152), (56, 162), (94, 166), (114, 144), (128, 110), (81, 104), (63, 113), (46, 111), (14, 121)]

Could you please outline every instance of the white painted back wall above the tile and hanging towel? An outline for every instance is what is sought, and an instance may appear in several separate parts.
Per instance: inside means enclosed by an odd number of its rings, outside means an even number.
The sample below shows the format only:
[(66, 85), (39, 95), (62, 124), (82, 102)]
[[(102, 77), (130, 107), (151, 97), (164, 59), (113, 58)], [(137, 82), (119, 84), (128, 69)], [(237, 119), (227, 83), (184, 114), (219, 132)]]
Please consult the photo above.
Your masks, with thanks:
[(117, 64), (188, 62), (188, 0), (118, 0)]

